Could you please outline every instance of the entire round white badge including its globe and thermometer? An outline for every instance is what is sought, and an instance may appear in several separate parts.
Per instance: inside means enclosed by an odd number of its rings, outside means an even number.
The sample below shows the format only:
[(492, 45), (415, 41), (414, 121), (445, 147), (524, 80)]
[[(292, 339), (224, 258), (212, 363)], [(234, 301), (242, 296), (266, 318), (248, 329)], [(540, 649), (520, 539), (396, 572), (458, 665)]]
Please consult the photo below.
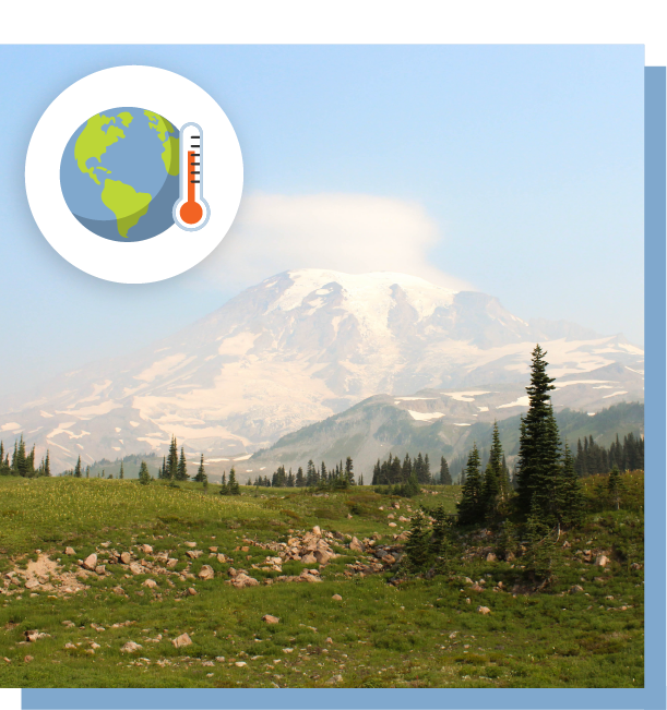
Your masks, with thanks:
[(147, 284), (181, 274), (223, 240), (243, 164), (222, 108), (189, 80), (117, 67), (67, 88), (33, 133), (28, 203), (78, 268)]

